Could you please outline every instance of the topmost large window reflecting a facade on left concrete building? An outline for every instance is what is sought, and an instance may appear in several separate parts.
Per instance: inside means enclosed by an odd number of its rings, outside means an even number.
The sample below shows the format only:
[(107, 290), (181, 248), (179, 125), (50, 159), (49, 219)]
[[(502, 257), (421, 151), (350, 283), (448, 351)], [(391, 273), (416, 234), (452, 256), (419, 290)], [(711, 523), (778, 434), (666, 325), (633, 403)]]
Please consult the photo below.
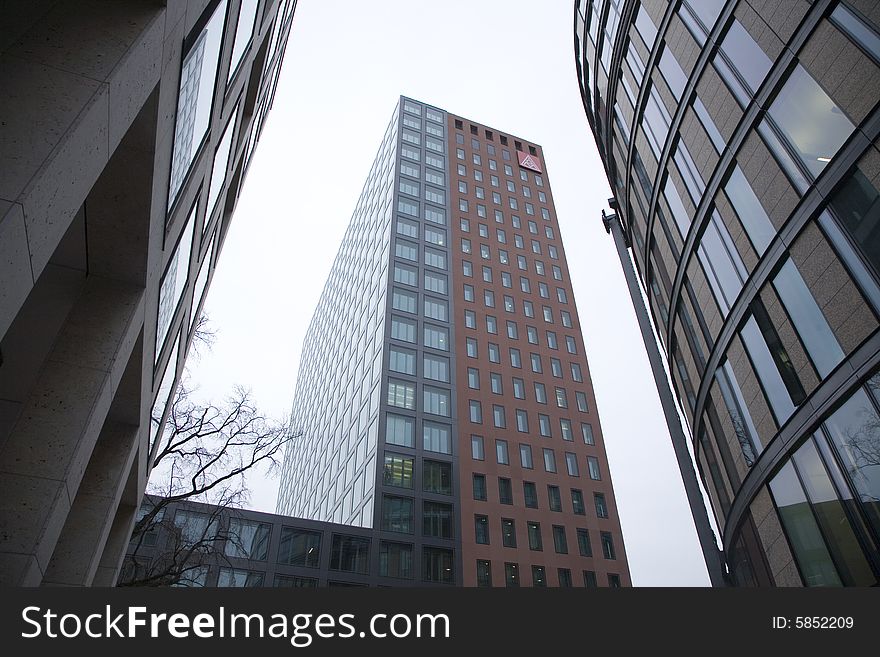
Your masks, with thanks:
[(171, 180), (168, 186), (169, 209), (177, 198), (211, 122), (214, 82), (220, 60), (225, 15), (226, 0), (220, 0), (201, 32), (192, 39), (192, 45), (183, 57), (174, 123)]

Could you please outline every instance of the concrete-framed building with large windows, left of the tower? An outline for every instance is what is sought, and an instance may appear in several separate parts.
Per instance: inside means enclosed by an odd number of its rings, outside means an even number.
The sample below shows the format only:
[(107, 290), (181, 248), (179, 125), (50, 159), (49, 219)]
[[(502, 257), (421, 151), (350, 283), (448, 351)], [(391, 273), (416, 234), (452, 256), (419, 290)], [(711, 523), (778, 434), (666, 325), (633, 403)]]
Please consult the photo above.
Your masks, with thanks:
[(0, 9), (0, 582), (110, 585), (295, 0)]

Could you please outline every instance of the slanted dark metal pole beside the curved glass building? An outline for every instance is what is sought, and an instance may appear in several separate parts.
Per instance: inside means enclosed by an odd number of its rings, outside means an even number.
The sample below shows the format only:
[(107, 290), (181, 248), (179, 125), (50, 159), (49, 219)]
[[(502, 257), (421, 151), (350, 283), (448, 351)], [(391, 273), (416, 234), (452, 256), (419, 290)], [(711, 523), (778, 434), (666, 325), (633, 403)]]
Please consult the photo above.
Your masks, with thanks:
[(666, 424), (669, 427), (672, 449), (675, 452), (675, 458), (678, 460), (681, 481), (684, 484), (684, 491), (687, 495), (688, 504), (691, 507), (691, 515), (694, 518), (697, 538), (703, 550), (703, 558), (706, 561), (709, 581), (712, 583), (712, 586), (726, 586), (722, 553), (718, 550), (717, 543), (715, 542), (715, 532), (712, 531), (712, 526), (709, 524), (709, 515), (706, 512), (706, 505), (703, 503), (703, 495), (697, 481), (697, 473), (694, 470), (691, 454), (687, 447), (687, 437), (681, 428), (681, 420), (672, 395), (672, 388), (670, 387), (669, 379), (666, 378), (666, 370), (663, 367), (660, 351), (657, 348), (657, 342), (651, 330), (648, 310), (645, 308), (641, 288), (629, 258), (623, 227), (620, 225), (620, 220), (616, 214), (606, 214), (604, 210), (602, 211), (602, 222), (605, 224), (605, 230), (614, 237), (614, 244), (617, 246), (620, 266), (626, 278), (626, 285), (632, 298), (633, 309), (636, 311), (636, 318), (639, 320), (642, 341), (645, 343), (645, 351), (648, 353), (648, 361), (651, 363), (651, 371), (654, 374), (654, 383), (657, 385), (657, 393), (660, 396), (660, 405), (663, 407), (663, 414), (666, 416)]

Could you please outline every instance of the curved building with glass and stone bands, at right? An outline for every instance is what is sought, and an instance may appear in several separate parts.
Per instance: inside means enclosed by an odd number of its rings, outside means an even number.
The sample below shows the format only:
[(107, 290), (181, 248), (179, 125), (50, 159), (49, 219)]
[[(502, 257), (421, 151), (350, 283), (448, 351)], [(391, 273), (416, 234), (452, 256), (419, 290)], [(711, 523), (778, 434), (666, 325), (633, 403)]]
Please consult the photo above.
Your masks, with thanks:
[(584, 109), (729, 582), (880, 574), (880, 4), (578, 0)]

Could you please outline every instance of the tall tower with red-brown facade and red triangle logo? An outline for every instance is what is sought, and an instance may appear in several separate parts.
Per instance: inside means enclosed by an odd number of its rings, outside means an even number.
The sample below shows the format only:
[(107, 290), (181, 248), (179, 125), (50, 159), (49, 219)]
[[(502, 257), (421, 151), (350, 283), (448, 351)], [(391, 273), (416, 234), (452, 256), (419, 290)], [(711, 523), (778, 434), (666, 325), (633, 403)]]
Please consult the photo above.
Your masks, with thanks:
[(401, 97), (292, 415), (279, 513), (372, 528), (380, 575), (630, 584), (540, 146)]

